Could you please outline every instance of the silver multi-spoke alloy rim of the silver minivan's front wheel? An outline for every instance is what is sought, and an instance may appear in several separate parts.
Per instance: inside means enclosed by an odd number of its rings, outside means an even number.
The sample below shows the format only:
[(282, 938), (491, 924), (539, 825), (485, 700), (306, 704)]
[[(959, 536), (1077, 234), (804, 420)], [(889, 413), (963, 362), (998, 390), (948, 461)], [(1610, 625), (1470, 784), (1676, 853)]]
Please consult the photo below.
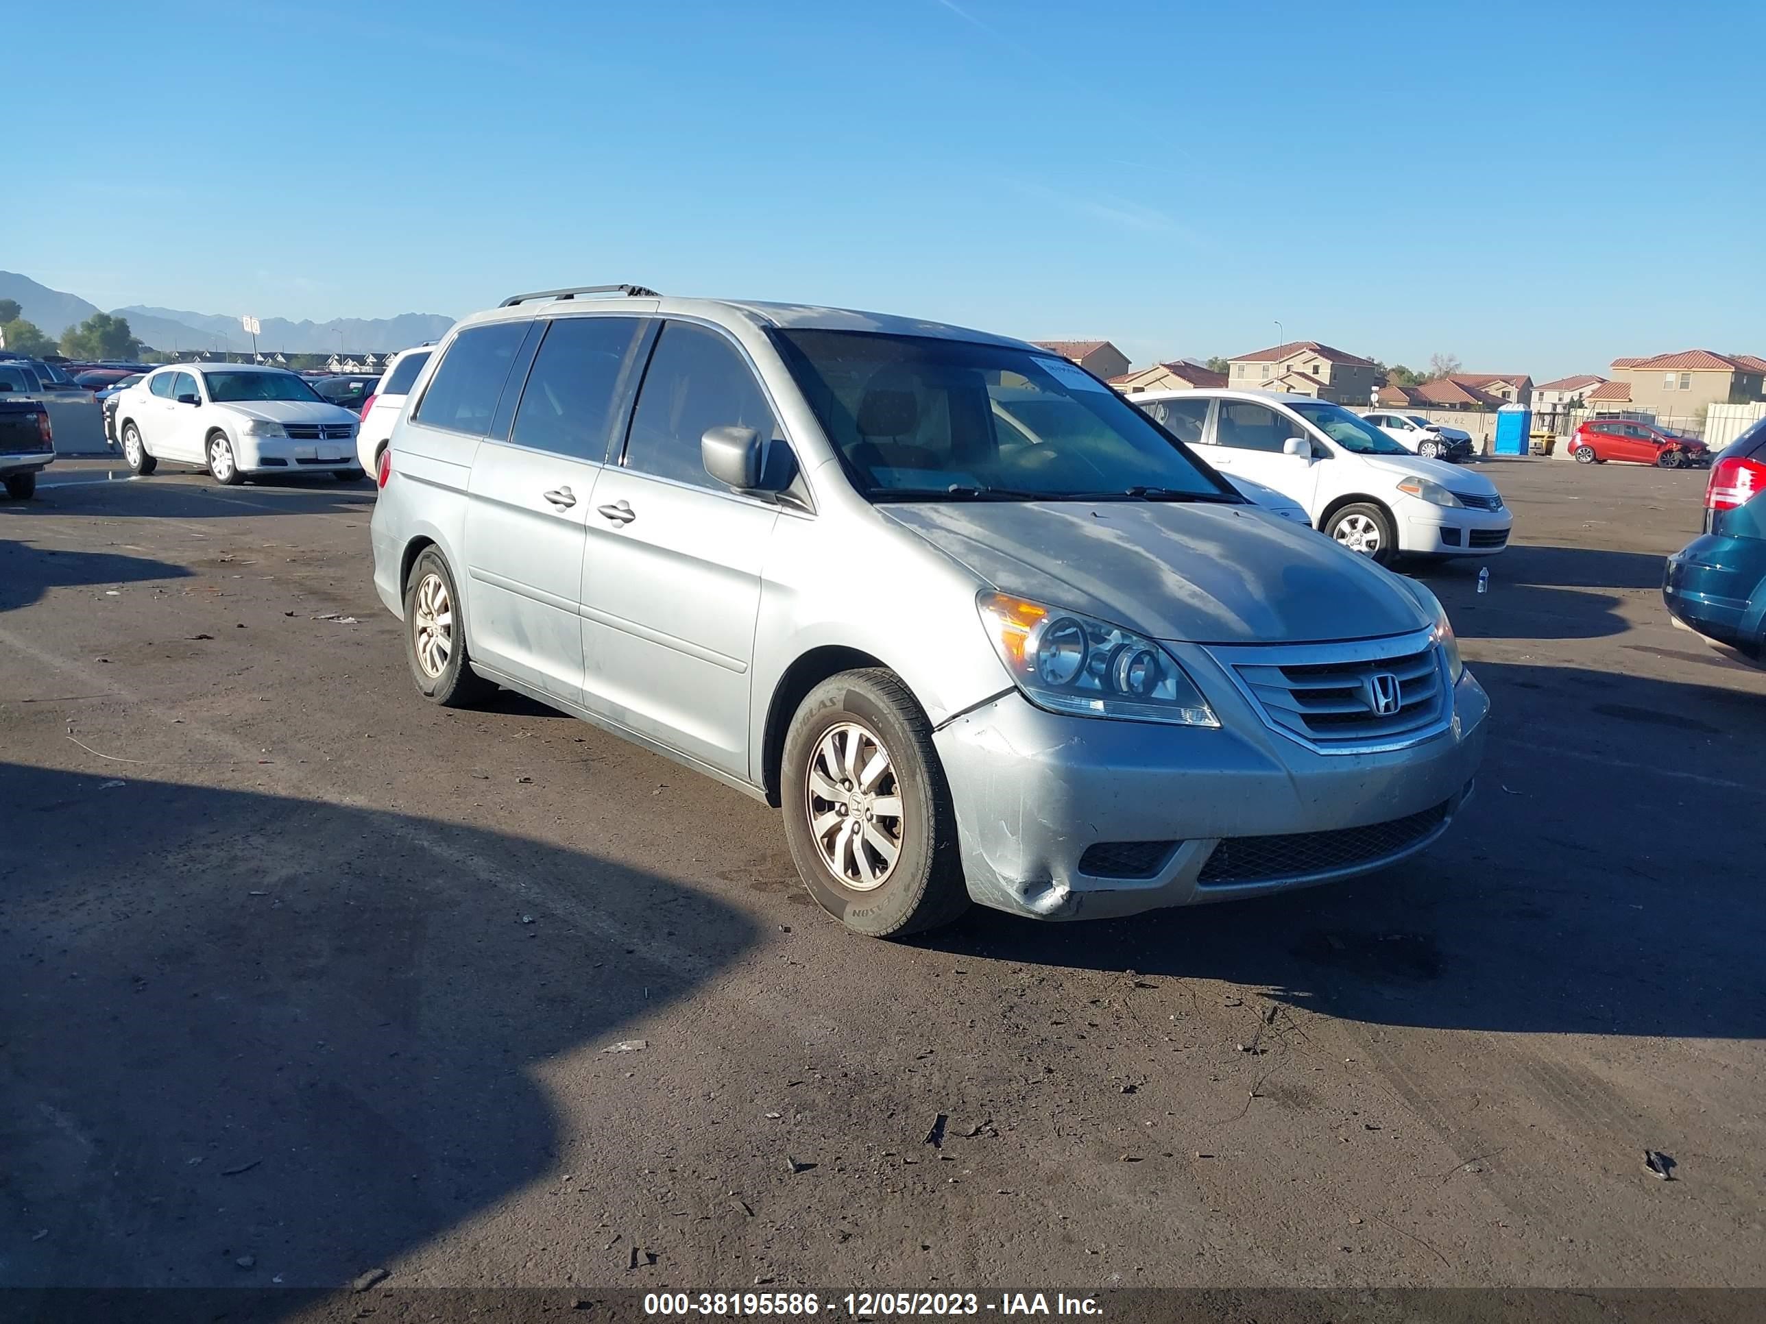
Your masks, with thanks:
[(860, 722), (823, 733), (804, 779), (804, 807), (821, 863), (853, 891), (888, 883), (901, 858), (901, 787), (878, 734)]

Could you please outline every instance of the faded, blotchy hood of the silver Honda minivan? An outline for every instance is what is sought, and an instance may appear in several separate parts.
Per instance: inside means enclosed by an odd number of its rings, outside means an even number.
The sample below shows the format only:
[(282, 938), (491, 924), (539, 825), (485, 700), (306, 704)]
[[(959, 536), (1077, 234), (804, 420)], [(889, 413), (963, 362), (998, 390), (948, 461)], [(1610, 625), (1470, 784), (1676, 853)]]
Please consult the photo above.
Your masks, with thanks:
[(1432, 620), (1397, 579), (1256, 507), (931, 501), (878, 512), (992, 588), (1180, 643), (1323, 643)]

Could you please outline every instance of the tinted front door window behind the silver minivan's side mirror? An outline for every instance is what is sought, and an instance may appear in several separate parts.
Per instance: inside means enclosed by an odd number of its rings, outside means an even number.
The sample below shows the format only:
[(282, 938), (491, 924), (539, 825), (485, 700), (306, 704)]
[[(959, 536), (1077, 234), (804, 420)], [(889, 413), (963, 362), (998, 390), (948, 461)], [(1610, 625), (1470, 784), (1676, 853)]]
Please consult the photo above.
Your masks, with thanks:
[(699, 438), (708, 427), (752, 427), (761, 440), (777, 431), (766, 397), (736, 348), (717, 332), (671, 321), (645, 372), (625, 466), (713, 487), (699, 459)]

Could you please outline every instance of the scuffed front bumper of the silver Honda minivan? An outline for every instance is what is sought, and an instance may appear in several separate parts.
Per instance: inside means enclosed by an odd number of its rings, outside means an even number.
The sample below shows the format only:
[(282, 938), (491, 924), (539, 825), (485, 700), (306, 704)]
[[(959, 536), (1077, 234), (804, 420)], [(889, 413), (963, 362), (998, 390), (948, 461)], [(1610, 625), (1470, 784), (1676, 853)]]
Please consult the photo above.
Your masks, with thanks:
[(1171, 727), (1063, 717), (1012, 690), (943, 726), (970, 895), (1090, 920), (1381, 869), (1459, 814), (1489, 699), (1468, 671), (1446, 729), (1377, 754), (1319, 754), (1233, 701), (1215, 708), (1219, 729)]

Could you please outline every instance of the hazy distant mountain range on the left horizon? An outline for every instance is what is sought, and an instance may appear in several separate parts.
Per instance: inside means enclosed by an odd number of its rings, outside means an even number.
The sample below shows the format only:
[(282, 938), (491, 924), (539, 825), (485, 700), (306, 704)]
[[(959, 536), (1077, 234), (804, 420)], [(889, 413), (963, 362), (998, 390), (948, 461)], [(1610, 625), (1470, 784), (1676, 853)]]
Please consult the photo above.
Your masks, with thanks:
[[(251, 350), (251, 335), (237, 316), (223, 312), (187, 312), (171, 307), (101, 309), (79, 295), (49, 290), (18, 272), (0, 272), (0, 298), (18, 300), (19, 316), (49, 335), (60, 335), (94, 312), (111, 312), (129, 320), (129, 330), (154, 350)], [(258, 350), (265, 353), (385, 353), (424, 341), (440, 339), (454, 318), (440, 312), (401, 312), (396, 318), (332, 318), (330, 321), (288, 321), (260, 318)]]

